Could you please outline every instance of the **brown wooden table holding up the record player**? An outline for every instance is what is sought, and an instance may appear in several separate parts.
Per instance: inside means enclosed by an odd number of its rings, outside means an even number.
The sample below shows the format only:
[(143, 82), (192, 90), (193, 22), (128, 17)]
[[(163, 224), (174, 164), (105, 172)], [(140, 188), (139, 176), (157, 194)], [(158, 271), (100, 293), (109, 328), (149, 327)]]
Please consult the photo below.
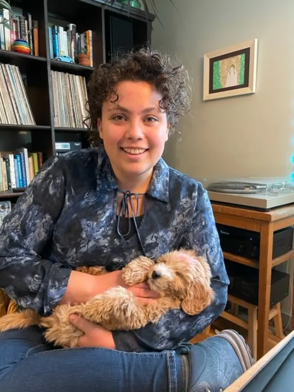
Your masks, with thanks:
[[(294, 257), (294, 250), (291, 250), (280, 257), (272, 259), (273, 233), (276, 230), (294, 225), (294, 204), (270, 211), (258, 211), (212, 202), (212, 208), (217, 223), (260, 233), (259, 262), (223, 252), (224, 258), (227, 260), (259, 269), (257, 319), (257, 358), (259, 359), (266, 354), (269, 335), (271, 269)], [(292, 314), (294, 315), (294, 293)], [(292, 330), (294, 330), (294, 317), (292, 318)]]

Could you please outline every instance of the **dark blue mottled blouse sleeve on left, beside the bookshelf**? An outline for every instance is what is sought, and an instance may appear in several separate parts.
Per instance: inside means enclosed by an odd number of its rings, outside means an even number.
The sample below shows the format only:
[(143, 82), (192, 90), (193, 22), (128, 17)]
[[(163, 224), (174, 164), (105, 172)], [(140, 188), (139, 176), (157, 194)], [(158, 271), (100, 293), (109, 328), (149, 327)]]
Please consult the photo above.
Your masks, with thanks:
[(19, 306), (48, 315), (71, 270), (42, 258), (65, 199), (58, 157), (47, 160), (0, 227), (0, 288)]

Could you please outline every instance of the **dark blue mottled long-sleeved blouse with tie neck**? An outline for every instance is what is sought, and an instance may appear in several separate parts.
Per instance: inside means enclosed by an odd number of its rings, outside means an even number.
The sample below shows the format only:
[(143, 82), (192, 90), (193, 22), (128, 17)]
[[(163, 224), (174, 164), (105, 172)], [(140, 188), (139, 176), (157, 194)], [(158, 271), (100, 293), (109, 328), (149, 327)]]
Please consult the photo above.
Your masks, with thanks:
[[(51, 157), (0, 227), (0, 288), (20, 306), (49, 315), (65, 293), (71, 269), (121, 269), (142, 254), (138, 236), (117, 232), (117, 183), (103, 147)], [(180, 246), (205, 255), (216, 301), (196, 317), (172, 310), (158, 324), (113, 333), (125, 351), (174, 349), (222, 312), (225, 271), (211, 204), (202, 185), (161, 158), (145, 196), (139, 235), (146, 255)]]

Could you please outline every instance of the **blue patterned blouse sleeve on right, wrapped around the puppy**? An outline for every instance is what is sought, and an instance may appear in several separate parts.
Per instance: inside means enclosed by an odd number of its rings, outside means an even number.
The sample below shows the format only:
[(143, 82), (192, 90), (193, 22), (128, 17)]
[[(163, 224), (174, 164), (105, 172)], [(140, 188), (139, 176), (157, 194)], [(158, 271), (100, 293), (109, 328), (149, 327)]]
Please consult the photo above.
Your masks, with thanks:
[(215, 301), (197, 316), (189, 316), (181, 309), (171, 310), (158, 324), (128, 332), (115, 331), (117, 349), (123, 351), (162, 351), (176, 349), (179, 343), (190, 341), (195, 335), (217, 319), (227, 302), (228, 276), (225, 270), (219, 234), (206, 190), (198, 185), (196, 209), (192, 224), (181, 244), (205, 256), (212, 271), (211, 287)]

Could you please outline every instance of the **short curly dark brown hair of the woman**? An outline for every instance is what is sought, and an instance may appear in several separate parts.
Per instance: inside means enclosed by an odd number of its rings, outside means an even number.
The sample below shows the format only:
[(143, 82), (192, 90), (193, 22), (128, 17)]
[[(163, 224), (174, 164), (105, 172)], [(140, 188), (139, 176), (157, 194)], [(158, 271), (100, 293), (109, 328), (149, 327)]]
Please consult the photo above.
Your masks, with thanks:
[(142, 48), (112, 58), (110, 63), (97, 67), (88, 82), (87, 110), (90, 123), (91, 147), (101, 143), (97, 121), (102, 104), (112, 96), (119, 97), (116, 86), (125, 80), (141, 80), (152, 84), (161, 95), (159, 107), (167, 113), (170, 134), (179, 118), (190, 110), (191, 85), (187, 70), (178, 61), (156, 50)]

